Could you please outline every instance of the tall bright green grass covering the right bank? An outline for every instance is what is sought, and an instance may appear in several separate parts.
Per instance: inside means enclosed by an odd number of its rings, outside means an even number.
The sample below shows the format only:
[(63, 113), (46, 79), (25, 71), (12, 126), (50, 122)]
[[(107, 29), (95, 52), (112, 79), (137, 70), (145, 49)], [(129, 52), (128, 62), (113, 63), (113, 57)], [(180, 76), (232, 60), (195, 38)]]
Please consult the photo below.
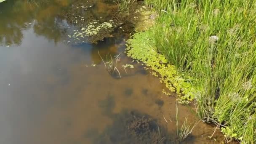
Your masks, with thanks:
[(256, 143), (256, 0), (145, 3), (161, 12), (152, 30), (157, 51), (194, 77), (198, 115)]

